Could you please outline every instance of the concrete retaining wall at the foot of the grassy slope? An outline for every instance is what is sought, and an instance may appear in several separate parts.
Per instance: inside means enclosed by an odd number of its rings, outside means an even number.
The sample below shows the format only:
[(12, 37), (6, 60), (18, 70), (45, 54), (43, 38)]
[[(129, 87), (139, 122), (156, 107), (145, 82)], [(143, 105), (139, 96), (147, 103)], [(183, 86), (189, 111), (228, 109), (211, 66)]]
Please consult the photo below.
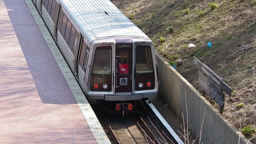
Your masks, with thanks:
[(165, 59), (159, 54), (156, 54), (156, 59), (160, 77), (159, 96), (180, 120), (183, 120), (183, 113), (185, 124), (188, 118), (191, 134), (197, 137), (202, 127), (201, 142), (204, 143), (246, 143), (248, 141)]

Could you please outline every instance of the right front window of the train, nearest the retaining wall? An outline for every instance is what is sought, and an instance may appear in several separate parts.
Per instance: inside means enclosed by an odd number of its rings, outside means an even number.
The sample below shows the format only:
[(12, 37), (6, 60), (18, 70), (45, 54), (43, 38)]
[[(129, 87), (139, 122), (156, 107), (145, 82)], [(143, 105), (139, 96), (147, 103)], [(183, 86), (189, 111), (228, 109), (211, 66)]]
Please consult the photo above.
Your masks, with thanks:
[(136, 46), (136, 73), (153, 73), (150, 46)]

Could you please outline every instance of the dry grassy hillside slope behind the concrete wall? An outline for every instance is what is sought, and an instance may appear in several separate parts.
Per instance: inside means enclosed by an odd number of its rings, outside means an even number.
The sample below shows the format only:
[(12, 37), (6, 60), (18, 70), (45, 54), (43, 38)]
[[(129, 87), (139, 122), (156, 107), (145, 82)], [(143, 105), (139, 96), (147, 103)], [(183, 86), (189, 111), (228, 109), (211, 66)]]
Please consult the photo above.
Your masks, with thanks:
[(249, 139), (256, 137), (256, 0), (112, 2), (199, 92), (194, 56), (219, 74), (232, 88), (223, 115), (238, 129), (251, 126), (252, 131), (243, 134)]

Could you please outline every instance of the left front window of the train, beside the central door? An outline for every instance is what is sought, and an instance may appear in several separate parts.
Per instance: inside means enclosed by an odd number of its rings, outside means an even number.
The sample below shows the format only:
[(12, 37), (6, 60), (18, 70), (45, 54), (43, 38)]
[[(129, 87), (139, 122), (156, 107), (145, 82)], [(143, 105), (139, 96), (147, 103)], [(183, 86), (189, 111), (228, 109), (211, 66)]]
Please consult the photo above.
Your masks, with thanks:
[(111, 46), (96, 48), (92, 74), (111, 74)]

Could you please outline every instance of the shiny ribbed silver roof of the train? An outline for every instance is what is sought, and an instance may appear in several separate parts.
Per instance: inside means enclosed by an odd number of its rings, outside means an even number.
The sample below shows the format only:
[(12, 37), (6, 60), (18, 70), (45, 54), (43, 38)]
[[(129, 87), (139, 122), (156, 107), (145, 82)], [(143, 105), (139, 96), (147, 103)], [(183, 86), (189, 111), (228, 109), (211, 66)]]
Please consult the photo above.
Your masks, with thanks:
[(89, 40), (128, 36), (148, 39), (110, 0), (59, 0)]

